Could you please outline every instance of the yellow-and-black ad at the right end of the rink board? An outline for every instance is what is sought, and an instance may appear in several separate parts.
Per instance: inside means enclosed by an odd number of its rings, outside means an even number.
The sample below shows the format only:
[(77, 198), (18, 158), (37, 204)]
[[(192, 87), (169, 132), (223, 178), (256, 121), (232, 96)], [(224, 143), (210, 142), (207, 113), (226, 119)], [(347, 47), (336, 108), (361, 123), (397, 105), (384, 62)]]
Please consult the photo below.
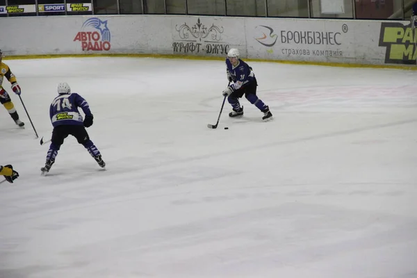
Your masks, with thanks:
[(379, 47), (386, 47), (386, 64), (416, 64), (416, 35), (411, 24), (382, 22)]

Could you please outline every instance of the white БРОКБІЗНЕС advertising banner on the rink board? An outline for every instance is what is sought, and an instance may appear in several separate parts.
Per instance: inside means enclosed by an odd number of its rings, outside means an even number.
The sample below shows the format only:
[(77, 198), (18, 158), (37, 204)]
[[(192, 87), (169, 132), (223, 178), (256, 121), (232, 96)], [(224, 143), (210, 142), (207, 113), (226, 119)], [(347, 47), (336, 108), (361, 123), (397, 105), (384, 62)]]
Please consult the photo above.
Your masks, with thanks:
[(343, 60), (354, 57), (352, 22), (255, 19), (247, 22), (248, 54), (276, 60)]

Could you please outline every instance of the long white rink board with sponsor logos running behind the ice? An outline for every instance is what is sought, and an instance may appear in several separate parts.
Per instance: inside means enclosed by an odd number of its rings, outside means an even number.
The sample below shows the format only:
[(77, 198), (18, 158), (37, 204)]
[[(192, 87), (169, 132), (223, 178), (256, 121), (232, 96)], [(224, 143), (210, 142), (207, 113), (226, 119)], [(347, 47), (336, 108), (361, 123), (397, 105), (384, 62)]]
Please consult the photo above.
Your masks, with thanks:
[[(165, 54), (325, 63), (416, 64), (409, 22), (183, 15), (1, 18), (6, 56)], [(384, 35), (383, 25), (398, 28)], [(407, 26), (408, 25), (408, 26)], [(28, 28), (28, 26), (31, 26)], [(389, 40), (382, 43), (382, 39)], [(411, 38), (412, 40), (412, 38)], [(396, 51), (389, 54), (391, 44)], [(391, 55), (391, 56), (390, 56)]]

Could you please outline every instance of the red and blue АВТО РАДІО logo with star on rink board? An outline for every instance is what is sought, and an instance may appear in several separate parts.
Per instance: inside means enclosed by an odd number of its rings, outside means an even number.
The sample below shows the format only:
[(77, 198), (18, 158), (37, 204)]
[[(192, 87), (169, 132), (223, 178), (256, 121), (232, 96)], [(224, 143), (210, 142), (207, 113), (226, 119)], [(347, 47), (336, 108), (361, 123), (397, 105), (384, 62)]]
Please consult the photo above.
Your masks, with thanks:
[(101, 21), (98, 17), (85, 20), (81, 31), (76, 34), (75, 41), (81, 42), (83, 51), (109, 51), (110, 30), (107, 27), (107, 20)]

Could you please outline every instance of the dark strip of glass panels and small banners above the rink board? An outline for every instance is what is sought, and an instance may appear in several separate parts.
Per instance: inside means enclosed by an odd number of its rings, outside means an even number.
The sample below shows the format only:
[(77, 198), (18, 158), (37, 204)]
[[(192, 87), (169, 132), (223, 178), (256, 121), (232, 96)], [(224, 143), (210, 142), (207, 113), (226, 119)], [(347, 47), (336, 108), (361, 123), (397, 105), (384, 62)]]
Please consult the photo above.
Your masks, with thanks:
[(0, 17), (211, 15), (409, 20), (417, 0), (0, 0)]

